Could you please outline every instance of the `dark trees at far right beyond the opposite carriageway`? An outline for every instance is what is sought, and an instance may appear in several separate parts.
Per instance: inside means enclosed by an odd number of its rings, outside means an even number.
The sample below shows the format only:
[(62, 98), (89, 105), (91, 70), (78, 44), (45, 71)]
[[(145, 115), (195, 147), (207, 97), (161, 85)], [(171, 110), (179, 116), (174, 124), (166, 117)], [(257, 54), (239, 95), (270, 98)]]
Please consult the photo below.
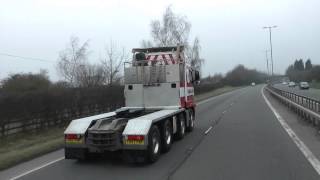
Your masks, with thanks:
[(291, 81), (320, 81), (320, 65), (313, 65), (311, 59), (295, 60), (286, 70), (286, 75)]

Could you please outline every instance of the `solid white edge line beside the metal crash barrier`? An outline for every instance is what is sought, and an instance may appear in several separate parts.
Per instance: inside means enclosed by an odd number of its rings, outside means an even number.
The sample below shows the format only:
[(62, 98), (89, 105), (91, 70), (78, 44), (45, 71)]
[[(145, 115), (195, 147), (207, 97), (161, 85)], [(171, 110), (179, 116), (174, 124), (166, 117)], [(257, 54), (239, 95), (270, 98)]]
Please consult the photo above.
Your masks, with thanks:
[(269, 108), (273, 112), (273, 114), (276, 116), (278, 121), (280, 122), (281, 126), (287, 131), (293, 142), (298, 146), (300, 151), (303, 153), (303, 155), (306, 157), (306, 159), (310, 162), (312, 167), (317, 171), (317, 173), (320, 175), (320, 162), (316, 158), (316, 156), (309, 150), (309, 148), (300, 140), (300, 138), (294, 133), (294, 131), (290, 128), (290, 126), (284, 121), (284, 119), (280, 116), (280, 114), (275, 110), (275, 108), (272, 106), (270, 101), (267, 99), (267, 97), (263, 93), (264, 87), (261, 89), (261, 94), (265, 100), (265, 102), (268, 104)]

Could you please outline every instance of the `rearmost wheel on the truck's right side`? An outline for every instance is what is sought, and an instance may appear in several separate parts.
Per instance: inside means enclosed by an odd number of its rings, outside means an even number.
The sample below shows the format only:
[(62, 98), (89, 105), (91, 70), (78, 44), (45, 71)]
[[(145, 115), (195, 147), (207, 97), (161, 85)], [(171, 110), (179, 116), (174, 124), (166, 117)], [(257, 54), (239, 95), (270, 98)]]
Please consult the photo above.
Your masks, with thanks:
[(153, 125), (148, 136), (147, 161), (156, 162), (159, 159), (161, 150), (160, 132), (157, 126)]

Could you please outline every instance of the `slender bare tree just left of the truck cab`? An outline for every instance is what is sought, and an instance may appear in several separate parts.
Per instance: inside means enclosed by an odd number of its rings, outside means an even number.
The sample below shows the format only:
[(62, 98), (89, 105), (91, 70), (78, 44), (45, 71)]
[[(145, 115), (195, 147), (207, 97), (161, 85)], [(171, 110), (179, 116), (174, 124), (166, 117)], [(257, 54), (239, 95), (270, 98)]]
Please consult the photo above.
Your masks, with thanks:
[(121, 50), (113, 41), (106, 47), (106, 56), (101, 60), (107, 84), (120, 83), (122, 63), (128, 59), (125, 49)]

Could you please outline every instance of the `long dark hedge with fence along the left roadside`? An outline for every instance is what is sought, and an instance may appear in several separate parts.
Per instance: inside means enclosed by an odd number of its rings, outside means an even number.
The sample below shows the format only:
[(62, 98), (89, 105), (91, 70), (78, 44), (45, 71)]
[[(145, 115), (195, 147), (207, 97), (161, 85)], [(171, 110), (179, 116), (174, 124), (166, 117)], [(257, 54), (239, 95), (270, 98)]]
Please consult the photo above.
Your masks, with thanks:
[[(195, 87), (195, 94), (222, 86), (221, 83), (201, 84)], [(1, 93), (0, 135), (66, 125), (72, 119), (109, 112), (123, 105), (123, 86), (120, 85)]]

